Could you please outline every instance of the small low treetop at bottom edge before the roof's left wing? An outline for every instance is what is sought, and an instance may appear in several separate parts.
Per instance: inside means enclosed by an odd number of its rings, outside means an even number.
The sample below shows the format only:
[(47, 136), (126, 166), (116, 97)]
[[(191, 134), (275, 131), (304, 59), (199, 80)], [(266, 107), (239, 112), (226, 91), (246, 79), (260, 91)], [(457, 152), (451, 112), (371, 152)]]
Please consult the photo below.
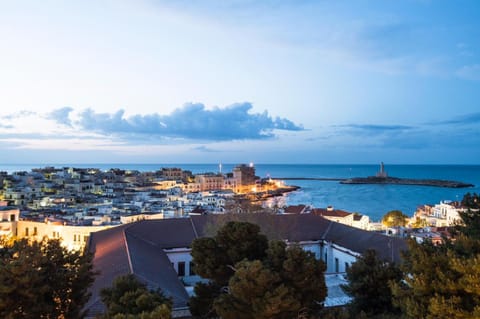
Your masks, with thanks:
[(168, 319), (171, 315), (171, 300), (160, 290), (148, 290), (132, 274), (116, 278), (100, 295), (107, 307), (104, 319)]

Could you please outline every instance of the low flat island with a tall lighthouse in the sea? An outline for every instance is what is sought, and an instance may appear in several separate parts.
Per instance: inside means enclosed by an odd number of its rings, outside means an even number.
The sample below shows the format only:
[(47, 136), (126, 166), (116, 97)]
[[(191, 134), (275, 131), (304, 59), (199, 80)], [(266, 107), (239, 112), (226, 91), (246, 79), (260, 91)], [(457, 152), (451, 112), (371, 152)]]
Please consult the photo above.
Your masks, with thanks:
[(447, 181), (439, 179), (415, 179), (415, 178), (398, 178), (387, 175), (383, 162), (380, 164), (380, 171), (375, 176), (353, 177), (340, 181), (341, 184), (394, 184), (394, 185), (418, 185), (418, 186), (434, 186), (449, 188), (465, 188), (473, 187), (473, 184)]

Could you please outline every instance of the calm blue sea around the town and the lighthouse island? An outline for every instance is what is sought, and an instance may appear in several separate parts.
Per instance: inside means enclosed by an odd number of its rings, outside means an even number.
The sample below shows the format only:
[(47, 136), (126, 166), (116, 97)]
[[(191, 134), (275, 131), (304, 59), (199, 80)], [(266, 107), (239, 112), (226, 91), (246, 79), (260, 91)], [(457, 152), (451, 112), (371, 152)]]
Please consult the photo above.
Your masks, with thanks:
[[(237, 164), (0, 164), (0, 171), (30, 171), (46, 166), (99, 168), (108, 170), (156, 171), (162, 167), (178, 167), (194, 174), (207, 172), (228, 173)], [(315, 165), (315, 164), (255, 164), (256, 175), (261, 178), (351, 178), (373, 176), (380, 169), (375, 165)], [(400, 210), (412, 216), (424, 204), (461, 200), (467, 192), (480, 193), (480, 165), (389, 165), (389, 176), (401, 178), (453, 180), (475, 185), (469, 188), (443, 188), (412, 185), (345, 185), (338, 181), (286, 180), (287, 185), (300, 186), (284, 195), (286, 205), (312, 205), (316, 208), (333, 206), (348, 212), (368, 215), (379, 221), (391, 210)]]

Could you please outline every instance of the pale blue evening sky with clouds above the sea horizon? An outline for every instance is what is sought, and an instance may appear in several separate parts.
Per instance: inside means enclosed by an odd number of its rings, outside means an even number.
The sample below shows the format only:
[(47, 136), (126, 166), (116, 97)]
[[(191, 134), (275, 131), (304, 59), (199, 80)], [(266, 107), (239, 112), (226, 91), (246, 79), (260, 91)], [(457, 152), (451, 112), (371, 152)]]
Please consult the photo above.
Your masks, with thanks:
[(480, 164), (480, 2), (0, 0), (0, 164)]

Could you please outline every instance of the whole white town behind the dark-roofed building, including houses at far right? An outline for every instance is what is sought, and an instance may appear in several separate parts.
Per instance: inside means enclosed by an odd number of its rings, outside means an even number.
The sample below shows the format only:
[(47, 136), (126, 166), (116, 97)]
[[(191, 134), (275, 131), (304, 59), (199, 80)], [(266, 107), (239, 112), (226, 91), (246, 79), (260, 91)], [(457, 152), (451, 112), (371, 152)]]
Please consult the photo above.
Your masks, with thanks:
[(253, 164), (232, 172), (192, 174), (181, 168), (155, 172), (97, 168), (45, 167), (31, 172), (0, 172), (0, 235), (61, 238), (82, 249), (91, 233), (140, 220), (201, 214), (274, 212), (322, 216), (368, 231), (441, 237), (437, 231), (457, 224), (465, 211), (459, 202), (442, 201), (417, 208), (402, 229), (388, 228), (369, 216), (332, 206), (286, 206), (282, 195), (298, 187), (260, 179)]

